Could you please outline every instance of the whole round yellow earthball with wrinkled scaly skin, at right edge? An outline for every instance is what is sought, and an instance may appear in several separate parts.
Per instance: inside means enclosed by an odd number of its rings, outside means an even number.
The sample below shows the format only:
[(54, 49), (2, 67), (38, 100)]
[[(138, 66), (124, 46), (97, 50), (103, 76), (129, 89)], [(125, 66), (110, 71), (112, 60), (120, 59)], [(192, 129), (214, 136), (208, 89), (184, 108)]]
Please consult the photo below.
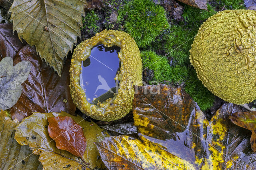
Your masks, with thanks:
[(190, 62), (214, 95), (234, 104), (256, 99), (256, 11), (218, 12), (191, 46)]

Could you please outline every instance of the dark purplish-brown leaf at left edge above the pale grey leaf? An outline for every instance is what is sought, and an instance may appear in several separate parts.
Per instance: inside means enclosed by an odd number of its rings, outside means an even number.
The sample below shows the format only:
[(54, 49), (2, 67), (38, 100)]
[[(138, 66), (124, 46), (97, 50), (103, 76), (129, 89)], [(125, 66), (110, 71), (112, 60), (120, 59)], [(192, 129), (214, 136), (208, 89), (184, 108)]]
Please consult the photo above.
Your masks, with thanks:
[(20, 41), (16, 32), (12, 31), (12, 23), (0, 23), (0, 61), (4, 57), (12, 59), (18, 51), (26, 44)]

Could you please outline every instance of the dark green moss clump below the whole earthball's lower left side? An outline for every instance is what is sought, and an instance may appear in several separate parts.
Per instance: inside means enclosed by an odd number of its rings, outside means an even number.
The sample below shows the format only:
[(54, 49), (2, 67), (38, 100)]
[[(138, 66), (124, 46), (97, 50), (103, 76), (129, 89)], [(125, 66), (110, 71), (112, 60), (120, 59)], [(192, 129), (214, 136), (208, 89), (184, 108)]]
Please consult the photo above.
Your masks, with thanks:
[(212, 94), (196, 75), (196, 70), (192, 66), (189, 68), (188, 80), (185, 82), (185, 91), (197, 102), (202, 111), (209, 109), (213, 106), (215, 100), (214, 94)]

